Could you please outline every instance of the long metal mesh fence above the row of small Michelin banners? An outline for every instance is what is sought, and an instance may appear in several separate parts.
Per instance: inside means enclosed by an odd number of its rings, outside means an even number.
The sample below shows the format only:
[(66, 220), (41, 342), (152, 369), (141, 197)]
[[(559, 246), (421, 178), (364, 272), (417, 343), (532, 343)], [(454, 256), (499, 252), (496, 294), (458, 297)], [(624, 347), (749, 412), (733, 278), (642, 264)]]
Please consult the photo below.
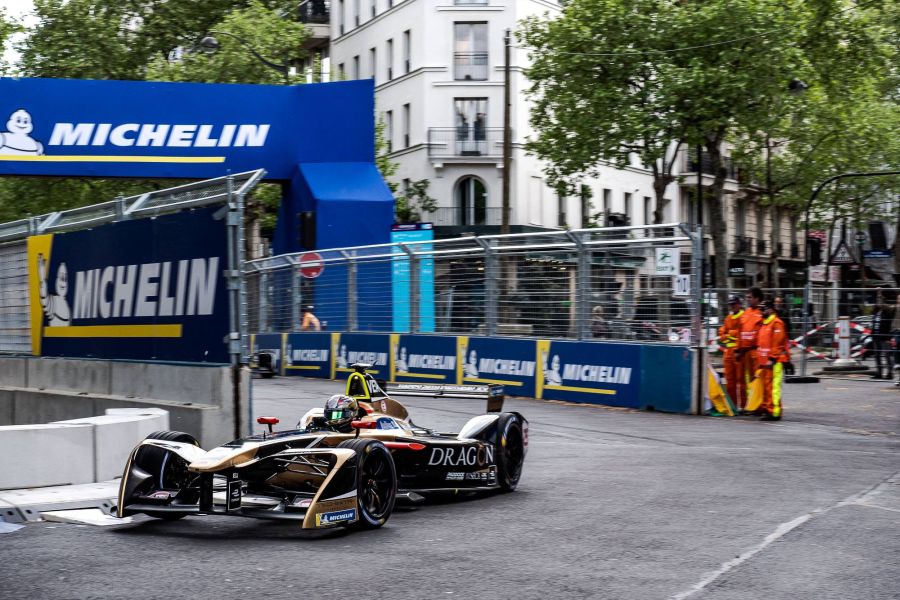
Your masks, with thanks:
[(251, 331), (526, 336), (690, 344), (699, 237), (678, 224), (468, 236), (245, 263)]

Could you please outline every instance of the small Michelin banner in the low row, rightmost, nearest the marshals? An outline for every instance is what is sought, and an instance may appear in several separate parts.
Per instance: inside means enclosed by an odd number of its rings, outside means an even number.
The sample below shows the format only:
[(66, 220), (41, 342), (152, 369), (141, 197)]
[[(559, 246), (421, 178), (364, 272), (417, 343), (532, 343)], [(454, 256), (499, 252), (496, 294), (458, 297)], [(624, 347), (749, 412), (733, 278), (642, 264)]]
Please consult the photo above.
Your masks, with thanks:
[(536, 397), (641, 406), (641, 346), (538, 340)]

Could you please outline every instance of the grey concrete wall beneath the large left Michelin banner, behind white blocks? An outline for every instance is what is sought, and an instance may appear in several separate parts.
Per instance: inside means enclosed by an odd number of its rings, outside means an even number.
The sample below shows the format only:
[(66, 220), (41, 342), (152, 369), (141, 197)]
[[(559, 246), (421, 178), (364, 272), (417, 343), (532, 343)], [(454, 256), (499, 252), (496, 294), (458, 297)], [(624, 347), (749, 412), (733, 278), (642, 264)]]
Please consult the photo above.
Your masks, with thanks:
[[(250, 371), (241, 376), (247, 413)], [(207, 447), (234, 439), (231, 367), (105, 360), (0, 357), (0, 425), (82, 419), (108, 408), (160, 408), (170, 426)], [(247, 414), (239, 415), (249, 431)]]

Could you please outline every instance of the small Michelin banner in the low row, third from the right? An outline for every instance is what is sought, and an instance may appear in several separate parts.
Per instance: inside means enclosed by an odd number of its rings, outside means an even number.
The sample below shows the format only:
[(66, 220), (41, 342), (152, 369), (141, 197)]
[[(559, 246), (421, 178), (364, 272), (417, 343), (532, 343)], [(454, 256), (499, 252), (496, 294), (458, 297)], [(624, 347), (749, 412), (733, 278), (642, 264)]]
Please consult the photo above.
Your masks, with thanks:
[(456, 338), (391, 335), (391, 381), (456, 383)]

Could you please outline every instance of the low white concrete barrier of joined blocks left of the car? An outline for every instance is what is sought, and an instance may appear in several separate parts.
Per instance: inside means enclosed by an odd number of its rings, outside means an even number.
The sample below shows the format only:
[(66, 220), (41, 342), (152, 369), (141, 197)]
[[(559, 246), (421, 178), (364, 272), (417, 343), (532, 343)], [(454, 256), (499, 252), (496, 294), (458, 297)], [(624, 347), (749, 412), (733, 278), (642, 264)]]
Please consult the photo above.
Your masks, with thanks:
[(122, 475), (128, 454), (153, 431), (169, 428), (154, 408), (46, 424), (0, 426), (0, 489), (108, 481)]

